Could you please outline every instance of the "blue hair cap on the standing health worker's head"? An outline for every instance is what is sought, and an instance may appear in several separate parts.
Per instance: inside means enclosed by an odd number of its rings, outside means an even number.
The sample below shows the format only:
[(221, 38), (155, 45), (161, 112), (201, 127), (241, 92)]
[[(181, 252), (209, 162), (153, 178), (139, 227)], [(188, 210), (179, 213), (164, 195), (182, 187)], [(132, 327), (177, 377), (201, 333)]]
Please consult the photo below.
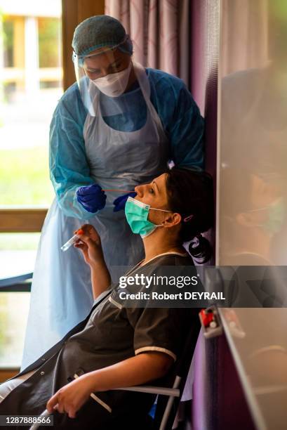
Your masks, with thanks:
[(91, 16), (74, 31), (72, 47), (77, 56), (86, 56), (95, 49), (119, 45), (119, 50), (133, 54), (133, 44), (121, 22), (109, 15)]

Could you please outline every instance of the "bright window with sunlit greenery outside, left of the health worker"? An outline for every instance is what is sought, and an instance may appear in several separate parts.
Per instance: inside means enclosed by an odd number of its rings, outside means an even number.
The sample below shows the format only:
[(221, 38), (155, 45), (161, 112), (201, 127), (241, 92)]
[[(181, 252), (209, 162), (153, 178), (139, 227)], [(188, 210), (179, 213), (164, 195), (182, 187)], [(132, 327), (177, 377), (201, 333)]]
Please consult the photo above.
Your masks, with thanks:
[[(53, 200), (48, 132), (63, 91), (61, 0), (0, 0), (0, 18), (3, 217), (7, 209), (48, 208)], [(17, 275), (22, 268), (33, 270), (40, 236), (3, 233), (11, 220), (11, 214), (6, 216), (9, 222), (0, 223), (0, 278)], [(20, 365), (28, 308), (28, 292), (1, 292), (0, 287), (0, 367)]]

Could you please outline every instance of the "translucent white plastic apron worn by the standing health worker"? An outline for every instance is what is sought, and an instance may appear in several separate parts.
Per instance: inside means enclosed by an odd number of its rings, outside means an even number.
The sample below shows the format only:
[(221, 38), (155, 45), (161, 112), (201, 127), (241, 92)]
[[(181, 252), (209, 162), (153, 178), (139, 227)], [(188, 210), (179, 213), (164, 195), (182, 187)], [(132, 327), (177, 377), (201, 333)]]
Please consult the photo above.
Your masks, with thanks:
[[(91, 176), (102, 188), (133, 190), (166, 170), (168, 141), (149, 100), (149, 80), (144, 67), (134, 63), (134, 70), (147, 104), (142, 129), (124, 132), (109, 127), (102, 118), (99, 100), (94, 104), (96, 116), (88, 115), (84, 124)], [(88, 220), (65, 216), (54, 200), (36, 257), (22, 369), (84, 320), (93, 305), (90, 268), (81, 252), (74, 247), (67, 252), (60, 250), (74, 230), (84, 223), (95, 226), (113, 280), (126, 272), (126, 266), (142, 259), (140, 236), (131, 233), (124, 211), (113, 211), (112, 202), (119, 195), (107, 193), (105, 208)]]

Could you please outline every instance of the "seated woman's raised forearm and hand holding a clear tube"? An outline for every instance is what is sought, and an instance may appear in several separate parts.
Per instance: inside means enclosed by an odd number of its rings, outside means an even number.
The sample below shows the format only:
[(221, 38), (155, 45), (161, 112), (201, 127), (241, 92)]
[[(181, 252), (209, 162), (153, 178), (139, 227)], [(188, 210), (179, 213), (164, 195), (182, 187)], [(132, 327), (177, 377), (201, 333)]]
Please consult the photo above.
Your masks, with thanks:
[[(80, 234), (81, 230), (84, 231), (84, 234)], [(111, 284), (111, 276), (102, 254), (100, 236), (91, 224), (81, 226), (80, 230), (74, 233), (81, 236), (75, 247), (81, 249), (86, 263), (91, 268), (93, 298), (96, 299)]]

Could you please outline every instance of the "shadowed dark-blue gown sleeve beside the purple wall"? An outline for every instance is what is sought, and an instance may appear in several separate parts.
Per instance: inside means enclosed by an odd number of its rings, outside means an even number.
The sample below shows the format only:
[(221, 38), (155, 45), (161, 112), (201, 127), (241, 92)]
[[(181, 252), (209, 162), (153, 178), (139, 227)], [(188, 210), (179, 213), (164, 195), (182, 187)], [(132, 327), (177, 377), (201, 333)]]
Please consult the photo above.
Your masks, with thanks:
[(151, 101), (170, 141), (175, 166), (203, 169), (203, 117), (184, 82), (161, 70), (148, 70)]

